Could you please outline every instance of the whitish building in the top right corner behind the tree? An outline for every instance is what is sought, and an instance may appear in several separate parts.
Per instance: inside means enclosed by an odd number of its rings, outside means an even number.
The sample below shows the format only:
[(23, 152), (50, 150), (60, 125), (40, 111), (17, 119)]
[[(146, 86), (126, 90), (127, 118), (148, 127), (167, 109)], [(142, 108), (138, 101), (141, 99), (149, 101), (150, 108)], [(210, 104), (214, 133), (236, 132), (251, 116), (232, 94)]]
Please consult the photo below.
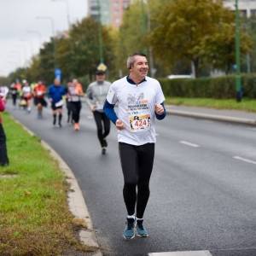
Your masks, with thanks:
[[(224, 6), (229, 7), (231, 10), (235, 10), (236, 0), (226, 0), (224, 1)], [(256, 15), (256, 1), (255, 0), (238, 0), (238, 9), (246, 15), (248, 18), (250, 16)]]

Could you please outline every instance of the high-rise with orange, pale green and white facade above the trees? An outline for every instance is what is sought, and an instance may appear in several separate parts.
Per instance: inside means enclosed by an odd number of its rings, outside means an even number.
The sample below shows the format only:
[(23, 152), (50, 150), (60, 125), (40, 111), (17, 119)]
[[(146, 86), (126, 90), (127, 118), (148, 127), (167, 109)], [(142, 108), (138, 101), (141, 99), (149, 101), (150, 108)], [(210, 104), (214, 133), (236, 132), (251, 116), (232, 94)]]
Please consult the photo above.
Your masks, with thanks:
[(98, 20), (100, 11), (103, 25), (119, 28), (122, 24), (124, 9), (131, 3), (132, 0), (88, 0), (89, 15)]

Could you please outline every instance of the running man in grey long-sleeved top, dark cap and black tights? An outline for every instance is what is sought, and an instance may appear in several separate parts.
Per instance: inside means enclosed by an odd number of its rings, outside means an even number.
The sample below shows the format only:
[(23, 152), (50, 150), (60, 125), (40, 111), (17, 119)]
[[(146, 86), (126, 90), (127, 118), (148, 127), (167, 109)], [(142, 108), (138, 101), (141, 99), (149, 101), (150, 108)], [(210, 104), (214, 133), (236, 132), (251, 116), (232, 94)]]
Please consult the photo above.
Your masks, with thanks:
[(97, 135), (102, 146), (102, 154), (106, 154), (108, 147), (106, 138), (110, 131), (110, 120), (103, 110), (103, 104), (110, 85), (109, 82), (105, 81), (105, 73), (102, 70), (97, 70), (96, 81), (91, 83), (86, 90), (86, 102), (96, 121)]

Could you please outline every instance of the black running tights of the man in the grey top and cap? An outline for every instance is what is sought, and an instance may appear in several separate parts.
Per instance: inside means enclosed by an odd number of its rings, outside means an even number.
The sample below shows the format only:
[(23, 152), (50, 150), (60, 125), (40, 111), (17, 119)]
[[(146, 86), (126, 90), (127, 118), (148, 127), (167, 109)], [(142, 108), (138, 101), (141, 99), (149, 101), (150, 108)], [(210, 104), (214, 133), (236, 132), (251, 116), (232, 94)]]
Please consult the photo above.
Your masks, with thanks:
[[(97, 126), (98, 139), (102, 147), (104, 147), (105, 146), (104, 138), (108, 136), (110, 131), (110, 120), (108, 119), (106, 113), (104, 112), (95, 111), (93, 115), (94, 115), (94, 119)], [(104, 126), (104, 132), (103, 132), (103, 126)]]

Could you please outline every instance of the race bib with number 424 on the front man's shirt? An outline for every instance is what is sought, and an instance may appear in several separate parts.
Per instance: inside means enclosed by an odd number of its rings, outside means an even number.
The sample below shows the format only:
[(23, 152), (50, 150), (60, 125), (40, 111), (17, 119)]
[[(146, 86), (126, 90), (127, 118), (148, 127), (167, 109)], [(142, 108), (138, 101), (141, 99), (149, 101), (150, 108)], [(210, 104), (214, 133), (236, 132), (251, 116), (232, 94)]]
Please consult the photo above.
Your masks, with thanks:
[(148, 131), (151, 129), (150, 114), (130, 115), (129, 124), (131, 132)]

